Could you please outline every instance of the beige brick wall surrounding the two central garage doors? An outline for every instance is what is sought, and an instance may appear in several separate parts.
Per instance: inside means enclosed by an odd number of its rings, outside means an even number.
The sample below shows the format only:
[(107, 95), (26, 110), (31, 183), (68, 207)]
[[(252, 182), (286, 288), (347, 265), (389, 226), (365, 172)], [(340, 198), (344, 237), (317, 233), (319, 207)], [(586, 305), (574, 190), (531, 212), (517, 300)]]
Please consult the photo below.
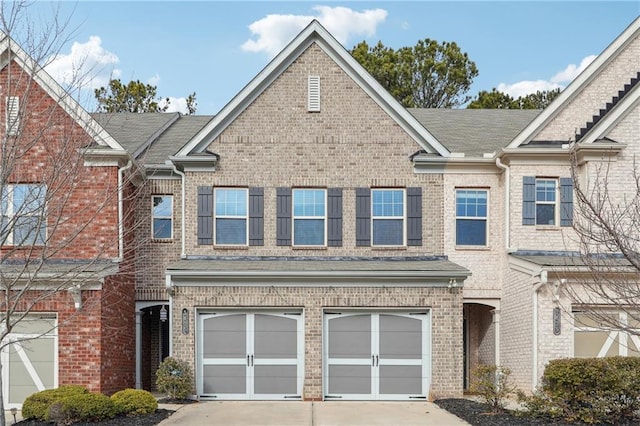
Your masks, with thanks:
[[(419, 287), (206, 286), (177, 287), (173, 297), (173, 356), (195, 371), (196, 308), (298, 308), (305, 320), (305, 379), (303, 397), (322, 398), (323, 308), (429, 308), (431, 312), (431, 388), (429, 397), (462, 395), (462, 295), (459, 289)], [(189, 311), (189, 334), (182, 334), (180, 313)]]

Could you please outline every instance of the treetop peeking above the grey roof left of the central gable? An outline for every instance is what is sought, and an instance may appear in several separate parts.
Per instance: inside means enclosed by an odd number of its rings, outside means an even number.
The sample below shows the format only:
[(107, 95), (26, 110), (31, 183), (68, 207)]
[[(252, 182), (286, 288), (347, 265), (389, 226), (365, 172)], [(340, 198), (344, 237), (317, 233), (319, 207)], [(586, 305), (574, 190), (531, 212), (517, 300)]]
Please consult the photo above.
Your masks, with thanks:
[[(107, 87), (94, 90), (98, 112), (165, 112), (171, 101), (157, 96), (157, 87), (140, 80), (122, 83), (120, 79), (109, 81)], [(187, 97), (187, 114), (196, 112), (196, 93)]]

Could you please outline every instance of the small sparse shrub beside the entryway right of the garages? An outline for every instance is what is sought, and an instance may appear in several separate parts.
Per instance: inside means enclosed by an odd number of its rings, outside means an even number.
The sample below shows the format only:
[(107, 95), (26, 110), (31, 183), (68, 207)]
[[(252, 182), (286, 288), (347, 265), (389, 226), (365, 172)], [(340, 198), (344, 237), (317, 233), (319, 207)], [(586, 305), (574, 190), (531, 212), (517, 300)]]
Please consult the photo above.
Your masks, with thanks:
[(515, 392), (515, 386), (509, 383), (511, 370), (495, 365), (479, 365), (474, 368), (472, 375), (471, 391), (479, 394), (492, 412), (504, 411), (506, 399)]

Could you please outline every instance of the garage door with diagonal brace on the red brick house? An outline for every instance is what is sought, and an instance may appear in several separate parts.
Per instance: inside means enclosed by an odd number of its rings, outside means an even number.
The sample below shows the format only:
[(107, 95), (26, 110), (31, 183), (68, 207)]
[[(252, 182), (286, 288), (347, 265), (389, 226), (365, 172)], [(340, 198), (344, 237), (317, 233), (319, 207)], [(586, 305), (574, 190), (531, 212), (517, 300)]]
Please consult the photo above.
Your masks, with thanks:
[(55, 326), (55, 316), (30, 315), (7, 337), (0, 354), (6, 408), (19, 408), (32, 393), (58, 386)]

